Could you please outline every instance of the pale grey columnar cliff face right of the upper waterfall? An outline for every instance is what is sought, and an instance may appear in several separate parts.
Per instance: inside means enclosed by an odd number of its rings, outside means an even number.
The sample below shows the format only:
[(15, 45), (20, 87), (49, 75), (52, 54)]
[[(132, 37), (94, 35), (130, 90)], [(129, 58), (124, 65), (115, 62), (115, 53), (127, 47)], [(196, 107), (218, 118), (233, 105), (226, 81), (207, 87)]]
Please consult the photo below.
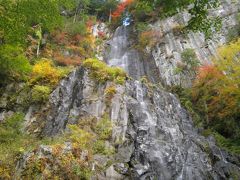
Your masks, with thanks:
[(202, 33), (182, 33), (181, 27), (186, 25), (189, 20), (189, 14), (179, 13), (173, 17), (166, 18), (151, 25), (153, 30), (162, 34), (158, 39), (156, 46), (149, 50), (153, 55), (160, 76), (166, 85), (190, 86), (189, 77), (181, 76), (175, 73), (178, 63), (181, 62), (181, 53), (187, 49), (194, 49), (196, 55), (202, 64), (211, 63), (211, 58), (216, 56), (216, 50), (219, 45), (228, 41), (234, 28), (240, 26), (239, 12), (240, 2), (231, 0), (222, 0), (221, 6), (211, 12), (214, 16), (222, 19), (222, 29), (214, 34), (212, 40), (205, 40)]

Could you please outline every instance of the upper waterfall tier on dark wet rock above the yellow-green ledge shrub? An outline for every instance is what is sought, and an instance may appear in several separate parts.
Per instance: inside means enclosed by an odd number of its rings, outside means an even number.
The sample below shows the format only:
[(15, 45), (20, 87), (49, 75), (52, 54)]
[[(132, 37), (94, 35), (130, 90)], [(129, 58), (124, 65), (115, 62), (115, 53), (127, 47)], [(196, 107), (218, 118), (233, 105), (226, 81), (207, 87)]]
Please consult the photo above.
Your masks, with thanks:
[(152, 83), (159, 83), (161, 80), (159, 69), (152, 55), (142, 54), (132, 48), (133, 40), (129, 37), (131, 28), (119, 27), (109, 41), (110, 51), (106, 54), (106, 62), (109, 66), (118, 66), (124, 69), (133, 79), (140, 80), (142, 77)]

